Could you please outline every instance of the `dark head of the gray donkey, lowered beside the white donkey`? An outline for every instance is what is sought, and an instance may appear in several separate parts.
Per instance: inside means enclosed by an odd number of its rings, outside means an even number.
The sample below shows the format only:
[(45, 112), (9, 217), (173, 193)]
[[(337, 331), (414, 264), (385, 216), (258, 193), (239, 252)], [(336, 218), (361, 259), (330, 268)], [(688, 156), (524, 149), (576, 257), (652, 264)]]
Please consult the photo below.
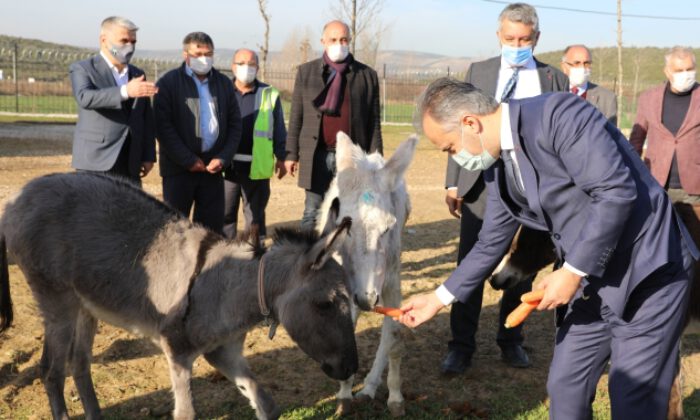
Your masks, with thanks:
[(267, 277), (288, 279), (273, 304), (280, 324), (326, 375), (338, 380), (349, 378), (358, 366), (347, 277), (332, 258), (351, 224), (345, 219), (321, 238), (315, 232), (278, 229), (266, 256), (278, 266)]

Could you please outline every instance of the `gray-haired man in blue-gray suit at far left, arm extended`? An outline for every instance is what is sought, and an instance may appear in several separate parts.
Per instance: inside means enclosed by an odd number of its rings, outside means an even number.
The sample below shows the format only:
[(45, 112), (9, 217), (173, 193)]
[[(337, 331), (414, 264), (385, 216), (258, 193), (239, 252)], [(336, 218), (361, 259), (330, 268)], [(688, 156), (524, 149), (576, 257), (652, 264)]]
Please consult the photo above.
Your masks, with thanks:
[(102, 21), (100, 53), (70, 66), (78, 124), (72, 166), (106, 172), (141, 184), (156, 161), (149, 97), (158, 89), (129, 64), (138, 27), (112, 16)]

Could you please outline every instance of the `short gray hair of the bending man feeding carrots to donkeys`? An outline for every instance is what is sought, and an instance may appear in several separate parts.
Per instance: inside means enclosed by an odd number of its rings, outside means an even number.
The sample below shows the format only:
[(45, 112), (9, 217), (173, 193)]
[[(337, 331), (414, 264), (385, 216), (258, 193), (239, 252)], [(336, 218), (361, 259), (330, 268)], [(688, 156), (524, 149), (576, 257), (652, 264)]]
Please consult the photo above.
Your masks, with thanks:
[(493, 97), (466, 83), (450, 77), (435, 80), (416, 101), (416, 113), (413, 126), (419, 133), (423, 132), (423, 118), (426, 114), (442, 124), (445, 131), (452, 131), (459, 125), (460, 117), (465, 114), (489, 115), (498, 109), (498, 102)]

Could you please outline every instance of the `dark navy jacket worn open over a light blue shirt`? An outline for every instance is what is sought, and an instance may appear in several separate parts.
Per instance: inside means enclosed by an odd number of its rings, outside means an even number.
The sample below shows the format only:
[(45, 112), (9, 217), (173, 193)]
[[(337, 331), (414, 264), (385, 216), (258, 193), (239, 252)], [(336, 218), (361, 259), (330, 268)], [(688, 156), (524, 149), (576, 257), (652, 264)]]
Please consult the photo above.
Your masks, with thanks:
[(170, 176), (188, 171), (197, 158), (207, 165), (214, 158), (228, 165), (241, 142), (241, 113), (231, 79), (212, 69), (209, 92), (216, 104), (219, 136), (214, 146), (202, 151), (199, 134), (199, 92), (185, 63), (165, 73), (158, 80), (158, 94), (153, 101), (156, 135), (160, 144), (160, 174)]

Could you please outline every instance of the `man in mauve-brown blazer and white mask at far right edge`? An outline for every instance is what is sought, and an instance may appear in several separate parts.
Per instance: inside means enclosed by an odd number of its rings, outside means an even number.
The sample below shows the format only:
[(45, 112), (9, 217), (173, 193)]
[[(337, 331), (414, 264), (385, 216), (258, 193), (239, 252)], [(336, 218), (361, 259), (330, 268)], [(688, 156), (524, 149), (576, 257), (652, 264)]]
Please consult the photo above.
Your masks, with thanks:
[(672, 48), (664, 73), (668, 83), (639, 96), (630, 143), (674, 203), (700, 204), (700, 89), (693, 50)]

